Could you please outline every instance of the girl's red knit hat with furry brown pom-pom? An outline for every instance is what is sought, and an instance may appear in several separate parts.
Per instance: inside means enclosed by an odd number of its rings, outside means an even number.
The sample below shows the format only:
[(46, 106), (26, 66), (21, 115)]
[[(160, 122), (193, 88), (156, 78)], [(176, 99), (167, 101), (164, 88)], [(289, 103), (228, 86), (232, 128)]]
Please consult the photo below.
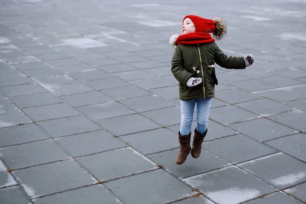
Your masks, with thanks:
[(213, 33), (214, 37), (221, 39), (226, 34), (226, 23), (222, 18), (207, 19), (196, 15), (187, 15), (184, 17), (190, 18), (195, 26), (195, 32)]

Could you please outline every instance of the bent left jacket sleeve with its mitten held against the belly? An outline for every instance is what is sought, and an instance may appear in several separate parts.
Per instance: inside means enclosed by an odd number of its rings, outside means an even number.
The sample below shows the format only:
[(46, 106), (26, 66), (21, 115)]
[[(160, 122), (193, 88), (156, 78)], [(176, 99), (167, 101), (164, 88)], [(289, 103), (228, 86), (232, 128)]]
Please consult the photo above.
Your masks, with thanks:
[(174, 50), (171, 61), (171, 71), (175, 79), (185, 85), (187, 81), (192, 77), (192, 73), (188, 72), (184, 68), (184, 59), (180, 46), (177, 46)]

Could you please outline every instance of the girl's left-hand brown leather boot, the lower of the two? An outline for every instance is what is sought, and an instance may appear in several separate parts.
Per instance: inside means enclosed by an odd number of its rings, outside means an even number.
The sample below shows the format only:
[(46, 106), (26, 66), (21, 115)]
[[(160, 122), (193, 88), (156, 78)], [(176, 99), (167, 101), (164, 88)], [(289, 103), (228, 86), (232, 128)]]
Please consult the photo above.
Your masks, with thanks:
[(183, 164), (185, 160), (187, 159), (187, 156), (189, 155), (191, 151), (190, 137), (191, 137), (191, 133), (189, 133), (188, 135), (182, 136), (181, 133), (179, 132), (180, 151), (175, 159), (176, 164)]

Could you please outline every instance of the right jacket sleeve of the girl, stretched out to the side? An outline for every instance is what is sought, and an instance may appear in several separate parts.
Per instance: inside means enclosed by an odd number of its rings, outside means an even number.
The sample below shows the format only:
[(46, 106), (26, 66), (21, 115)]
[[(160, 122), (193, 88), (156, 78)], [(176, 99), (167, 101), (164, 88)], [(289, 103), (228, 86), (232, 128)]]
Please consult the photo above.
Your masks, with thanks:
[(222, 50), (216, 45), (215, 62), (226, 69), (245, 69), (243, 57), (233, 57), (225, 55)]

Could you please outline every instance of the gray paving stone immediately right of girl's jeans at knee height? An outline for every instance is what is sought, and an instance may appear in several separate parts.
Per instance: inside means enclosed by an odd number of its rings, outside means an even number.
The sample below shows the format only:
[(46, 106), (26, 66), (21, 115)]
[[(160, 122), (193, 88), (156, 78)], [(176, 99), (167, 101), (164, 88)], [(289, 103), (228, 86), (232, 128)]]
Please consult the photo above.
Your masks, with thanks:
[[(224, 115), (226, 115), (226, 117), (224, 117)], [(210, 118), (224, 125), (232, 124), (234, 122), (250, 120), (258, 117), (260, 116), (237, 108), (235, 106), (223, 106), (211, 109), (210, 111)]]

